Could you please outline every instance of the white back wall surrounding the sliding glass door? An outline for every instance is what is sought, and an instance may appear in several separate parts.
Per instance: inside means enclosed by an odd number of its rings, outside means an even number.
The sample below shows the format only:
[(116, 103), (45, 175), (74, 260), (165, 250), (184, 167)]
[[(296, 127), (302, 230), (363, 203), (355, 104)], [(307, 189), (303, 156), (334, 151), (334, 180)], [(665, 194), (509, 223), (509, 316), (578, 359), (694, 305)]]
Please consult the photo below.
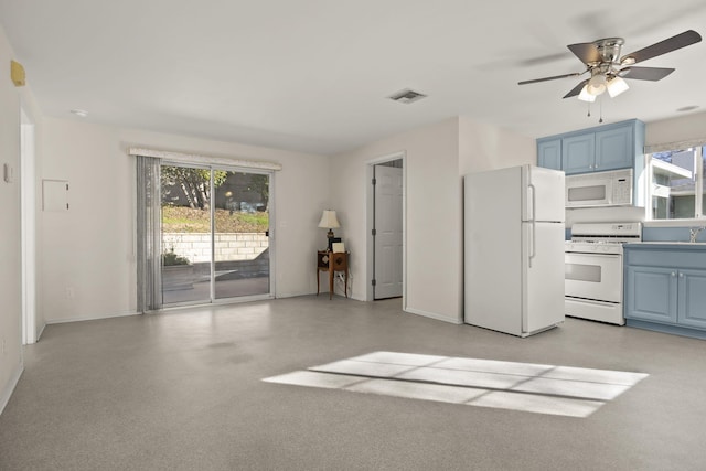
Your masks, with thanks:
[[(136, 311), (135, 158), (130, 147), (269, 160), (276, 172), (276, 296), (313, 292), (317, 217), (324, 206), (324, 157), (184, 136), (44, 120), (42, 178), (69, 182), (68, 212), (43, 212), (42, 298), (47, 322)], [(311, 184), (315, 182), (317, 184)]]

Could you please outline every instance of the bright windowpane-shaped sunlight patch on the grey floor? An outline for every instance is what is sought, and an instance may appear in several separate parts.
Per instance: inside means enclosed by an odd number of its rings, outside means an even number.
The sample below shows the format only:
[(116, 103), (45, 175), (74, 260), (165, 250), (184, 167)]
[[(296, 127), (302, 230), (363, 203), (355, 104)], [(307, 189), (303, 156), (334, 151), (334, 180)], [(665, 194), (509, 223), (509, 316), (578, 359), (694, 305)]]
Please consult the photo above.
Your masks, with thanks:
[(646, 376), (611, 370), (374, 352), (263, 381), (588, 417)]

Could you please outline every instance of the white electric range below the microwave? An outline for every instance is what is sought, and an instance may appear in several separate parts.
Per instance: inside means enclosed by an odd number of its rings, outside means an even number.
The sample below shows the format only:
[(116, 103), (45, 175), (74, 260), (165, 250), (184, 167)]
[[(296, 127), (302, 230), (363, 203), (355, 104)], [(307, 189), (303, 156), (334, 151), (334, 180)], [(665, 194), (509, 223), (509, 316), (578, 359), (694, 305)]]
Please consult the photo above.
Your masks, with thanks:
[(624, 325), (622, 244), (642, 240), (641, 223), (577, 223), (565, 247), (566, 315)]

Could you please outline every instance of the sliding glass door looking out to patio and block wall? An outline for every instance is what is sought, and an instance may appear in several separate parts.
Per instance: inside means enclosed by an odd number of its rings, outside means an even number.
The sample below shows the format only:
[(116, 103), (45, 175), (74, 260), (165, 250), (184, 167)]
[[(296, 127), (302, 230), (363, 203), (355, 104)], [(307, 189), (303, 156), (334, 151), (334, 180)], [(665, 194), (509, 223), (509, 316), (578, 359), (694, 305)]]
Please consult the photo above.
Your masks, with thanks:
[(162, 304), (270, 292), (269, 173), (162, 162)]

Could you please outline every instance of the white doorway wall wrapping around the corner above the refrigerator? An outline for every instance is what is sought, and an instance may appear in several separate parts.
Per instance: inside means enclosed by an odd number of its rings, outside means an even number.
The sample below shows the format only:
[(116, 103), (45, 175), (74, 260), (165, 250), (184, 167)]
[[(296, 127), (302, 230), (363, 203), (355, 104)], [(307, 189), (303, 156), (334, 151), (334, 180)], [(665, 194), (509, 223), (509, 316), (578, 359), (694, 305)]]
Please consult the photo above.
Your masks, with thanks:
[(462, 322), (461, 176), (536, 161), (534, 139), (457, 117), (372, 142), (333, 158), (332, 207), (351, 249), (353, 297), (365, 299), (366, 168), (406, 154), (406, 299), (408, 312)]

